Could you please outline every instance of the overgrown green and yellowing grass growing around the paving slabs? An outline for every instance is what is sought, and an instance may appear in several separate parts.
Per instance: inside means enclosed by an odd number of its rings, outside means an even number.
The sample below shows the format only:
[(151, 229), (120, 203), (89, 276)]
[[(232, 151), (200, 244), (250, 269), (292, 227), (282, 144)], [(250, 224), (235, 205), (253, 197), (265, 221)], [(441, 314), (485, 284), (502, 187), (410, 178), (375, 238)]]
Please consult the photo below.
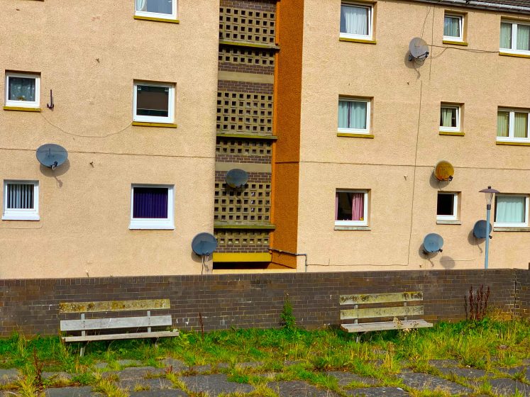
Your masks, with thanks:
[[(255, 396), (272, 397), (275, 392), (266, 386), (266, 381), (271, 379), (307, 381), (339, 393), (336, 379), (327, 376), (326, 371), (350, 371), (375, 378), (383, 386), (404, 387), (401, 379), (395, 376), (401, 371), (403, 360), (407, 360), (407, 366), (414, 371), (469, 386), (465, 379), (441, 374), (429, 360), (455, 359), (462, 367), (490, 371), (494, 367), (521, 365), (523, 359), (530, 358), (528, 320), (485, 318), (475, 322), (438, 323), (434, 328), (409, 332), (370, 332), (360, 343), (355, 342), (355, 335), (337, 328), (299, 330), (289, 315), (282, 320), (285, 327), (276, 330), (219, 330), (206, 332), (204, 336), (199, 332), (181, 332), (180, 337), (157, 343), (149, 340), (94, 342), (88, 346), (84, 357), (79, 357), (79, 345), (64, 345), (58, 337), (28, 340), (23, 335), (13, 334), (9, 339), (0, 340), (0, 367), (21, 369), (23, 379), (13, 387), (21, 395), (38, 396), (39, 387), (50, 386), (53, 380), (49, 384), (35, 385), (35, 366), (31, 364), (35, 350), (44, 371), (66, 371), (73, 374), (70, 384), (91, 385), (106, 396), (121, 397), (126, 391), (116, 386), (116, 379), (101, 379), (94, 371), (96, 362), (107, 362), (104, 371), (108, 371), (122, 369), (118, 363), (121, 359), (160, 367), (158, 360), (172, 357), (188, 366), (185, 374), (194, 374), (195, 366), (208, 364), (212, 373), (226, 372), (232, 381), (252, 384), (259, 390)], [(294, 364), (287, 365), (285, 361)], [(263, 364), (253, 368), (241, 366), (243, 362)], [(229, 366), (218, 367), (220, 363)], [(274, 373), (271, 379), (256, 376), (258, 372), (267, 371)], [(167, 373), (164, 376), (187, 391), (177, 375)], [(514, 374), (512, 379), (528, 382), (522, 372)], [(446, 396), (443, 391), (409, 391), (418, 397)], [(474, 392), (492, 395), (487, 381), (475, 386)]]

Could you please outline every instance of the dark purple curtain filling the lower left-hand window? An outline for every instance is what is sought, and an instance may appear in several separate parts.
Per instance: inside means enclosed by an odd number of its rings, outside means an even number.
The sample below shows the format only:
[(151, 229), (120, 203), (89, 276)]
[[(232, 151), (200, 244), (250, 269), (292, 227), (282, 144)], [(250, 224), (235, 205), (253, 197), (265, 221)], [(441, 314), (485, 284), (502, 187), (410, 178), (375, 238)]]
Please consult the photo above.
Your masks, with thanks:
[(167, 188), (135, 187), (133, 218), (167, 218)]

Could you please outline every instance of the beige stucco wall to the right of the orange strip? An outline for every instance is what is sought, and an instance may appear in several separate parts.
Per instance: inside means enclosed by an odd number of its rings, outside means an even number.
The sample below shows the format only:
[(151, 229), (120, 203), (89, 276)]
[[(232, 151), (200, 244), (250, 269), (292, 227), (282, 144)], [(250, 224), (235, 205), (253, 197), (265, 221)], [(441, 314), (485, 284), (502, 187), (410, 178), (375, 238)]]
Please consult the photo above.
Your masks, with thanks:
[[(459, 9), (469, 46), (456, 47), (442, 36), (443, 11), (457, 9), (378, 1), (370, 45), (338, 40), (340, 4), (305, 1), (298, 252), (321, 265), (309, 271), (482, 267), (484, 240), (469, 237), (485, 218), (478, 191), (530, 193), (530, 147), (495, 144), (497, 107), (530, 108), (530, 60), (496, 53), (507, 14)], [(422, 31), (439, 47), (413, 67), (407, 49)], [(336, 136), (339, 95), (373, 98), (374, 139)], [(464, 137), (438, 135), (442, 101), (464, 104)], [(456, 168), (449, 184), (431, 180), (439, 160)], [(370, 189), (371, 230), (333, 230), (337, 188)], [(461, 225), (436, 225), (438, 189), (461, 192)], [(430, 260), (420, 252), (427, 233), (445, 240)], [(493, 236), (490, 267), (528, 267), (530, 233)]]

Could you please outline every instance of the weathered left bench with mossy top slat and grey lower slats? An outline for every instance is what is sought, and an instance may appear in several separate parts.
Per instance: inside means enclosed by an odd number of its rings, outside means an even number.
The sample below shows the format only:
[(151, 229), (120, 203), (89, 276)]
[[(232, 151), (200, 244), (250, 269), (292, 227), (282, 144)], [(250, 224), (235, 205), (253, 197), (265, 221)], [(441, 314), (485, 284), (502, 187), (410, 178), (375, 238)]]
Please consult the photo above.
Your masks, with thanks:
[[(63, 342), (90, 342), (92, 340), (118, 340), (136, 339), (148, 337), (175, 337), (179, 335), (177, 330), (153, 331), (152, 328), (171, 327), (171, 315), (151, 315), (151, 311), (169, 309), (169, 299), (151, 299), (144, 301), (105, 301), (105, 302), (77, 302), (60, 303), (60, 313), (79, 313), (79, 320), (61, 320), (61, 332), (81, 332), (77, 336), (63, 336)], [(116, 318), (85, 318), (86, 313), (115, 313), (120, 311), (146, 311), (146, 315), (140, 317), (116, 317)], [(143, 332), (138, 332), (143, 328)], [(136, 329), (135, 332), (107, 333), (100, 335), (87, 335), (87, 332), (95, 330), (124, 330)], [(81, 356), (84, 348), (81, 348)]]

